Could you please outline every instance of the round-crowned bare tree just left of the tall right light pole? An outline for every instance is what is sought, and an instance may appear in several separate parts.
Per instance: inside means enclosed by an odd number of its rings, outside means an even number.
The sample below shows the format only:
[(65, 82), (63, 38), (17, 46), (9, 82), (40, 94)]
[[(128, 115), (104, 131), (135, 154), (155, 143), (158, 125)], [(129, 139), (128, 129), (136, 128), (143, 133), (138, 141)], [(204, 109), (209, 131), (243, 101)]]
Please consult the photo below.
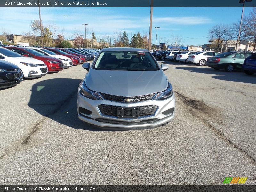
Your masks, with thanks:
[(217, 41), (217, 51), (220, 50), (220, 45), (224, 41), (228, 41), (232, 39), (232, 32), (230, 30), (231, 26), (230, 25), (215, 25), (209, 30), (209, 36), (210, 39), (216, 39)]

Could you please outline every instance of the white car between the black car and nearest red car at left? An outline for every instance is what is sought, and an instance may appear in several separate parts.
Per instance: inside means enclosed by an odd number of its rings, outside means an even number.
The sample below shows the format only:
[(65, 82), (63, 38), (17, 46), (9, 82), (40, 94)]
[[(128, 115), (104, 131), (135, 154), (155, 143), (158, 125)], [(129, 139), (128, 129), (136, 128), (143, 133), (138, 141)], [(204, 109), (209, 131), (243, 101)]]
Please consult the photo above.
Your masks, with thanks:
[(42, 77), (48, 73), (47, 66), (43, 61), (25, 57), (6, 48), (0, 48), (0, 59), (17, 65), (22, 71), (24, 78)]

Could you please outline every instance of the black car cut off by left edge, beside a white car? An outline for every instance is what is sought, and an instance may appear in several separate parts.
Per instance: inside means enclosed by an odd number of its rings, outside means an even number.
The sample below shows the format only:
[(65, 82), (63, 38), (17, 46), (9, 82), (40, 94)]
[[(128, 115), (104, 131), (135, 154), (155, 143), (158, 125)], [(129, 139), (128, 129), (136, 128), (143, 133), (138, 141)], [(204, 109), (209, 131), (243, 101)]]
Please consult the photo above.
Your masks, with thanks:
[(0, 60), (0, 89), (12, 87), (23, 81), (23, 74), (17, 65)]

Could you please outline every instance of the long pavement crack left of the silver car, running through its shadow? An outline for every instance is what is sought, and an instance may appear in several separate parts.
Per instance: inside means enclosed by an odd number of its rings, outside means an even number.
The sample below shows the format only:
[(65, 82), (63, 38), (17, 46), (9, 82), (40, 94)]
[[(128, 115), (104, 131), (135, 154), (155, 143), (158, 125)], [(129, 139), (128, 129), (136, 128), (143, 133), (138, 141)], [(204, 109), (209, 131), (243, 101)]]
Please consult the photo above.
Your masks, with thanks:
[[(42, 124), (46, 119), (49, 118), (50, 115), (55, 114), (59, 108), (62, 107), (63, 104), (65, 104), (68, 100), (70, 100), (74, 94), (77, 92), (77, 90), (73, 91), (70, 95), (68, 95), (68, 97), (66, 99), (64, 99), (62, 102), (58, 102), (55, 105), (51, 105), (51, 106), (57, 106), (56, 109), (50, 113), (48, 113), (47, 115), (45, 115), (45, 117), (43, 118), (42, 121), (40, 121), (39, 123), (37, 123), (31, 130), (31, 132), (23, 139), (23, 141), (18, 144), (18, 146), (14, 147), (12, 150), (9, 150), (7, 152), (5, 152), (3, 155), (0, 156), (0, 159), (2, 159), (4, 156), (9, 155), (10, 153), (20, 149), (22, 147), (22, 145), (26, 145), (28, 143), (28, 140), (30, 139), (30, 137), (37, 131), (39, 130), (40, 124)], [(40, 106), (41, 104), (38, 104), (38, 106)]]

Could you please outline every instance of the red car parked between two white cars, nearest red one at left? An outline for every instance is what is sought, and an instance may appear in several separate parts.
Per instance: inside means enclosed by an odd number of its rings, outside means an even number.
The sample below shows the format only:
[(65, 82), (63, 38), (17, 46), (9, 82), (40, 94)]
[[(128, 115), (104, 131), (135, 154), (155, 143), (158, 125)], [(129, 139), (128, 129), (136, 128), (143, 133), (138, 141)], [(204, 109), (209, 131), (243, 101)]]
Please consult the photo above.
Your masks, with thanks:
[(61, 60), (54, 57), (50, 57), (34, 49), (26, 48), (26, 47), (5, 47), (5, 48), (15, 51), (23, 56), (32, 57), (34, 59), (43, 61), (48, 68), (48, 72), (59, 72), (59, 71), (62, 71), (64, 68), (64, 64)]

